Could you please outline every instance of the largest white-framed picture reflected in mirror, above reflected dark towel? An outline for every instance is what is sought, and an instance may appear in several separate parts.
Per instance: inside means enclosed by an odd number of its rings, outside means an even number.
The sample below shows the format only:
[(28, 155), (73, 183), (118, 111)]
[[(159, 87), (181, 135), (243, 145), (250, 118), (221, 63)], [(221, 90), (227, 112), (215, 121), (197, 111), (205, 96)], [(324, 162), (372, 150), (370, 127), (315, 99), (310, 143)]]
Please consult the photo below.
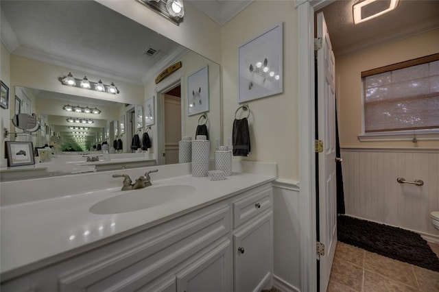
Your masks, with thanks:
[(187, 77), (187, 115), (209, 112), (209, 65)]

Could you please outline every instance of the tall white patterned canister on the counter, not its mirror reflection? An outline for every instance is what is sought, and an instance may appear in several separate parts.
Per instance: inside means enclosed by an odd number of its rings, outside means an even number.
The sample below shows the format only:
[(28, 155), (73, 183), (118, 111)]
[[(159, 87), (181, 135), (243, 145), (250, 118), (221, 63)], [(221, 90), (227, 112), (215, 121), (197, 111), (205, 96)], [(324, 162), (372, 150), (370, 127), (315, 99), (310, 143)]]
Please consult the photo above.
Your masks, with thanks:
[(210, 141), (206, 136), (197, 135), (192, 141), (192, 176), (202, 178), (209, 171)]

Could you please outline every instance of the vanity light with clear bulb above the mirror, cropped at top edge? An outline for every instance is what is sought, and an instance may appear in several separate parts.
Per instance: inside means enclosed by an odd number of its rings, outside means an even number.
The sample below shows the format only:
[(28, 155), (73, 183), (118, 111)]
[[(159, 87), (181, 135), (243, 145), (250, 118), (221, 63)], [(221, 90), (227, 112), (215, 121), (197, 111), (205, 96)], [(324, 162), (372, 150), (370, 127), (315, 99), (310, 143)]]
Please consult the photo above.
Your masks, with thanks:
[(176, 25), (180, 25), (185, 16), (183, 0), (136, 0), (147, 8), (154, 10)]

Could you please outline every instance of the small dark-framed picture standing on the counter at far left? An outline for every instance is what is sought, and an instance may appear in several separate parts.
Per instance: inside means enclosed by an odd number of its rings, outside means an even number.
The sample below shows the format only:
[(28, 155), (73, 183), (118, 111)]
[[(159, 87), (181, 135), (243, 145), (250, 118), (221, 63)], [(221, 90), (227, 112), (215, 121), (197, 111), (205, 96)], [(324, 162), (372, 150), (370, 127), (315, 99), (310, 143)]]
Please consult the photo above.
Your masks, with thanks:
[(32, 142), (5, 141), (8, 167), (34, 165), (34, 147)]

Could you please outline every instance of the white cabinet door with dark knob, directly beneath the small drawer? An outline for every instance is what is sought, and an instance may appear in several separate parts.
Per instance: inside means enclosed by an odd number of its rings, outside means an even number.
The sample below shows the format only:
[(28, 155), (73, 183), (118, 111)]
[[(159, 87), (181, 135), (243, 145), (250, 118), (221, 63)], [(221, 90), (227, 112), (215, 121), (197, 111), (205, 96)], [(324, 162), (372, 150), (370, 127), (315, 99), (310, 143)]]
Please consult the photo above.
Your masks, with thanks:
[(235, 291), (267, 289), (272, 284), (272, 210), (257, 217), (233, 235)]

